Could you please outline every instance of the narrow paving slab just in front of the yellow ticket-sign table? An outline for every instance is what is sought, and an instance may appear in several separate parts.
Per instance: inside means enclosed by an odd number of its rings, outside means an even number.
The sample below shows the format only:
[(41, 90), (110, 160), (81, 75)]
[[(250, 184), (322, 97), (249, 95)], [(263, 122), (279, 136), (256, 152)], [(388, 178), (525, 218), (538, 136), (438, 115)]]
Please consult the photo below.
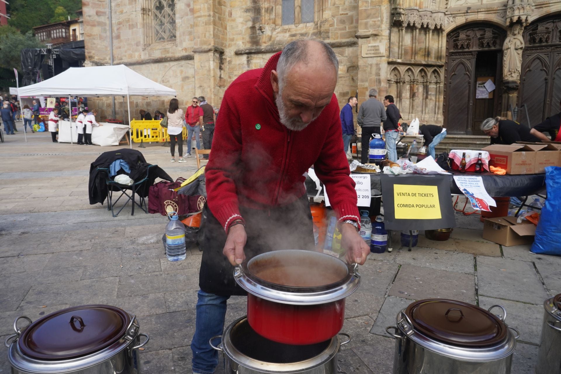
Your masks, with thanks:
[(470, 253), (415, 248), (409, 252), (402, 248), (396, 253), (398, 264), (431, 267), (432, 269), (457, 271), (458, 273), (474, 274), (473, 255)]

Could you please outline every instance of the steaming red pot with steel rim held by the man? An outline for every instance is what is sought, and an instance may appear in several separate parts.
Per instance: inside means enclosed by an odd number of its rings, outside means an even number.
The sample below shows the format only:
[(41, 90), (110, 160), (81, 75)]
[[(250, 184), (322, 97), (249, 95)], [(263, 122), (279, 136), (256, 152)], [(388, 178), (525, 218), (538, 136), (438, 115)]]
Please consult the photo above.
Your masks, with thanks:
[(344, 322), (345, 298), (360, 284), (357, 265), (320, 252), (263, 253), (234, 270), (247, 291), (247, 320), (257, 334), (283, 344), (333, 338)]

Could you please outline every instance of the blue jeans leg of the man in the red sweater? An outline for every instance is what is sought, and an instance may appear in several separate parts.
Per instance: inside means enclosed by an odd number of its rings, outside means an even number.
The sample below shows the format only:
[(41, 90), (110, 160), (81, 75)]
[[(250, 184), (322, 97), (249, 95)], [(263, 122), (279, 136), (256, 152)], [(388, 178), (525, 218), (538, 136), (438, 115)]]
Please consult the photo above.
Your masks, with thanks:
[[(197, 293), (197, 314), (195, 321), (195, 335), (191, 341), (193, 352), (192, 367), (197, 374), (214, 373), (218, 365), (218, 351), (210, 347), (209, 340), (213, 336), (222, 335), (224, 317), (226, 316), (226, 301), (229, 296), (219, 296), (199, 290)], [(218, 344), (219, 341), (213, 341)]]

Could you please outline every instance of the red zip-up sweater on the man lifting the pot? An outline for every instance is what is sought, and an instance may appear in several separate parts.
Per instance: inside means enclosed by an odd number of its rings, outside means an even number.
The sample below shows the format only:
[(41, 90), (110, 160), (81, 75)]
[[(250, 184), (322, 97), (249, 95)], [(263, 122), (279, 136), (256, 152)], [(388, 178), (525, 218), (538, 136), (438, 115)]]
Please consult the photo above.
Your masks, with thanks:
[(304, 130), (288, 130), (279, 121), (270, 81), (279, 56), (240, 75), (224, 94), (205, 168), (209, 209), (227, 231), (234, 220), (243, 219), (240, 205), (266, 210), (302, 197), (303, 174), (314, 165), (338, 219), (358, 222), (337, 98), (333, 95)]

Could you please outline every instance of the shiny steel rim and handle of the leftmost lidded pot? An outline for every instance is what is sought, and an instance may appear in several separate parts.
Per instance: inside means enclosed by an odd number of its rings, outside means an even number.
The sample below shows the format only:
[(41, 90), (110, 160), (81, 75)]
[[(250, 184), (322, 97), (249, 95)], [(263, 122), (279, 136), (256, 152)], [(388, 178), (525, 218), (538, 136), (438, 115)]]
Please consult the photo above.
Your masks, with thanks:
[[(128, 314), (131, 316), (132, 321), (136, 321), (136, 324), (138, 324), (136, 316), (131, 315), (131, 313)], [(144, 336), (146, 340), (141, 344), (134, 346), (134, 344), (136, 343), (136, 338), (139, 336)], [(135, 333), (132, 334), (132, 336), (126, 336), (125, 334), (121, 339), (117, 340), (112, 345), (109, 345), (109, 347), (105, 347), (104, 349), (99, 350), (98, 352), (64, 360), (36, 359), (29, 357), (21, 352), (19, 344), (17, 344), (17, 339), (15, 339), (11, 341), (10, 348), (8, 348), (8, 361), (13, 368), (26, 373), (72, 373), (107, 361), (108, 359), (111, 359), (115, 355), (119, 354), (119, 352), (121, 352), (123, 349), (140, 348), (148, 343), (149, 339), (150, 338), (148, 335), (140, 333), (140, 329), (136, 329)]]

